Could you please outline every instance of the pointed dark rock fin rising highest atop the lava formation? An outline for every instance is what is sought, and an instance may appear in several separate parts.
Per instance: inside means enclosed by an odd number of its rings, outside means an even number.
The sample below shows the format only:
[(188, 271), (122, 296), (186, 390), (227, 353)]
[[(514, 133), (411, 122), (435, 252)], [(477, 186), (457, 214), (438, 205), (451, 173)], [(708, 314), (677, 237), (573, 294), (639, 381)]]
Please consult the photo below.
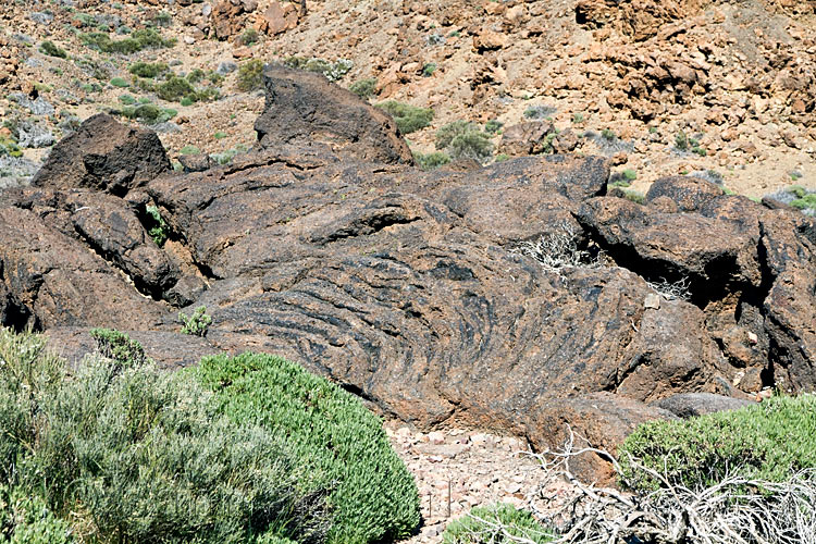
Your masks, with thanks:
[(311, 143), (337, 156), (412, 164), (408, 145), (384, 112), (323, 75), (270, 65), (263, 71), (267, 106), (255, 123), (260, 146)]

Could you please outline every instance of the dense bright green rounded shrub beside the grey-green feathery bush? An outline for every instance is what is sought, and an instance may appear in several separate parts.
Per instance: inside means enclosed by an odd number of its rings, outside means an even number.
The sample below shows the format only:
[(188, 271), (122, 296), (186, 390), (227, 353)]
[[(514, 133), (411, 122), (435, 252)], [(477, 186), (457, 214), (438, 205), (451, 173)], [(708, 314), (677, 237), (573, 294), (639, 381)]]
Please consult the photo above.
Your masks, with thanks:
[(311, 489), (333, 483), (329, 542), (406, 537), (419, 523), (417, 487), (380, 418), (358, 398), (298, 364), (269, 355), (206, 357), (195, 369), (235, 421), (287, 436)]

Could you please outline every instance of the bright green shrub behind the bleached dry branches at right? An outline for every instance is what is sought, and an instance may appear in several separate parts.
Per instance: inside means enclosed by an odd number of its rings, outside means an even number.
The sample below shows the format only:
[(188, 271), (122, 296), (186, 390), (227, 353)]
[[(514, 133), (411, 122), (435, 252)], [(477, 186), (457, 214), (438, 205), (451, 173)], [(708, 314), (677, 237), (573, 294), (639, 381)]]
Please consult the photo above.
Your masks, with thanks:
[(641, 425), (623, 442), (619, 458), (630, 485), (648, 491), (658, 483), (643, 475), (634, 480), (629, 455), (692, 489), (727, 474), (783, 482), (816, 468), (816, 396), (775, 396), (739, 410)]

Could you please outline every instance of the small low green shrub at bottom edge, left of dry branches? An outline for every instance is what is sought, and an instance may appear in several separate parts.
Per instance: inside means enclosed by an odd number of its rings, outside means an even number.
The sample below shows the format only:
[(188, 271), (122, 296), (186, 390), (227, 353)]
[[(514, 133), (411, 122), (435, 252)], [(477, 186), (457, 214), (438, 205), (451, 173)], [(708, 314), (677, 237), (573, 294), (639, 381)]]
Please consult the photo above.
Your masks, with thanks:
[(552, 540), (552, 533), (532, 514), (506, 503), (473, 508), (442, 533), (444, 544), (545, 544)]

